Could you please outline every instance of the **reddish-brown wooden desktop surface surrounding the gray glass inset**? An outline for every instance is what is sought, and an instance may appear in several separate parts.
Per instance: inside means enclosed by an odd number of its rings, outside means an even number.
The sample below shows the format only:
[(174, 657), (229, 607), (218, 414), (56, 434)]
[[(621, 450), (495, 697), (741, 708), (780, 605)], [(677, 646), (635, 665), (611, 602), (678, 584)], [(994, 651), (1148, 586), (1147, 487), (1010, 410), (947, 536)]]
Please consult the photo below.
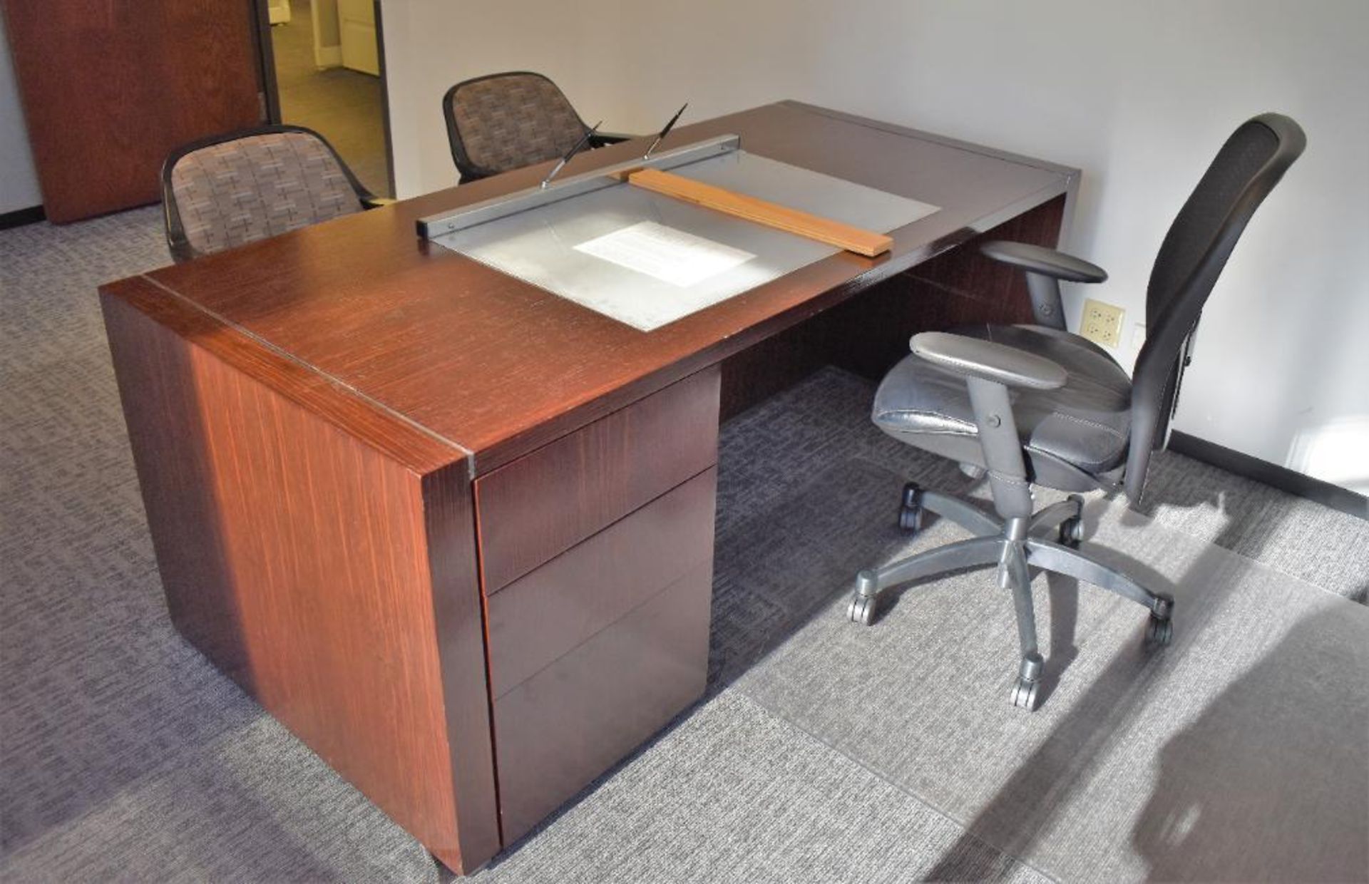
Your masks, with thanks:
[[(976, 233), (1058, 197), (1076, 172), (797, 103), (682, 126), (667, 146), (735, 133), (747, 152), (942, 207), (878, 259), (842, 252), (639, 331), (415, 233), (419, 218), (535, 183), (549, 163), (297, 230), (105, 286), (316, 405), (416, 439), (411, 465), (508, 463)], [(643, 140), (583, 153), (574, 174)], [(149, 311), (155, 304), (155, 311)], [(366, 421), (363, 421), (366, 423)], [(366, 434), (363, 434), (366, 435)], [(394, 447), (394, 446), (392, 446)], [(402, 447), (402, 445), (400, 446)], [(423, 449), (419, 452), (418, 449)], [(401, 452), (402, 454), (402, 452)]]

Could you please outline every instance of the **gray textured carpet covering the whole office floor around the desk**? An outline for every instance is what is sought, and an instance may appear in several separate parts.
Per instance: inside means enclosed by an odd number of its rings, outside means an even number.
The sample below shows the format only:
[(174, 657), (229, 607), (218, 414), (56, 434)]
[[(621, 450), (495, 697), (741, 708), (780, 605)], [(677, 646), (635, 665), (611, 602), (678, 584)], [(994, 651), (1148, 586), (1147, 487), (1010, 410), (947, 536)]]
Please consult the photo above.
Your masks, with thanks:
[[(167, 260), (155, 208), (0, 233), (0, 880), (438, 880), (167, 619), (94, 297)], [(724, 427), (705, 699), (472, 880), (1369, 879), (1369, 523), (1161, 456), (1088, 542), (1179, 597), (1175, 645), (1040, 577), (1024, 714), (987, 575), (842, 617), (958, 531), (902, 535), (904, 480), (984, 494), (871, 393)]]

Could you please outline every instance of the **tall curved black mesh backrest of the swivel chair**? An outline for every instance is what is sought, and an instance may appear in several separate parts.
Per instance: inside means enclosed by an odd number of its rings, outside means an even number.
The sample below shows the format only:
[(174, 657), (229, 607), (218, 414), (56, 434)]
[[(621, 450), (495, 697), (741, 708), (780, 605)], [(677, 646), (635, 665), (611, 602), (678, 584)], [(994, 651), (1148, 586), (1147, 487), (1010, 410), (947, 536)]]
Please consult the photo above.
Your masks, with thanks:
[(1243, 123), (1179, 211), (1146, 290), (1146, 343), (1132, 372), (1127, 495), (1140, 499), (1150, 453), (1165, 445), (1187, 342), (1246, 223), (1306, 146), (1280, 114)]

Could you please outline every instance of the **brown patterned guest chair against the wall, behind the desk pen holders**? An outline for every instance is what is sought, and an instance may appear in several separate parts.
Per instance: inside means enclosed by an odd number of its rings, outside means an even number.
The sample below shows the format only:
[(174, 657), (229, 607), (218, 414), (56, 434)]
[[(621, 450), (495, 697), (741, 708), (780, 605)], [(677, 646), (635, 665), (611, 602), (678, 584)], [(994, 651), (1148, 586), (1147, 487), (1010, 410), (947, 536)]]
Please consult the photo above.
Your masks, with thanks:
[[(463, 183), (559, 159), (590, 130), (556, 83), (530, 71), (459, 82), (442, 96), (442, 115)], [(590, 146), (632, 137), (594, 133)]]

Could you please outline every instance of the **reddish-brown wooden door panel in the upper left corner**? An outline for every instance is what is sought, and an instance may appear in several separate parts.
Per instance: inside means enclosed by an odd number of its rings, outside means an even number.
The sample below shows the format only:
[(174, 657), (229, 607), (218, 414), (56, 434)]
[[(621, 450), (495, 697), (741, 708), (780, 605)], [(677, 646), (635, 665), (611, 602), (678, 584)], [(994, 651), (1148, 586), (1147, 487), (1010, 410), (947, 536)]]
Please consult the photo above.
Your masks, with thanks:
[(177, 145), (260, 122), (256, 19), (220, 0), (5, 0), (48, 219), (160, 198)]

